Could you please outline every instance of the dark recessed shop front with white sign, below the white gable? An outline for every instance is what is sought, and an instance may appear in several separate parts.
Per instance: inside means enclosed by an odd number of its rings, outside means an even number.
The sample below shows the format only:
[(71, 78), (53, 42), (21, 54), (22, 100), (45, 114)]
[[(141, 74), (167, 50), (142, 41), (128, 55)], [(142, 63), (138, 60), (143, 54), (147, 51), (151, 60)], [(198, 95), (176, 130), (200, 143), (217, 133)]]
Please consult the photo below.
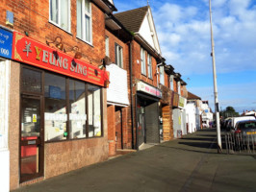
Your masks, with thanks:
[(160, 142), (159, 102), (162, 91), (143, 82), (137, 83), (137, 147)]

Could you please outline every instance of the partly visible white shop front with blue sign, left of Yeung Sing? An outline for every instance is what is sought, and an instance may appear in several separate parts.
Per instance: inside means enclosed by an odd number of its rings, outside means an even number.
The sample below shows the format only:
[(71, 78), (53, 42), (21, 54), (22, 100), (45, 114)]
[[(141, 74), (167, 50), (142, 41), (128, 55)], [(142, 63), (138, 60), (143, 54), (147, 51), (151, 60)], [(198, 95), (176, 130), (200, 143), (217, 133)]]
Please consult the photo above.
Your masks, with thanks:
[(0, 26), (0, 190), (10, 191), (9, 91), (13, 32)]

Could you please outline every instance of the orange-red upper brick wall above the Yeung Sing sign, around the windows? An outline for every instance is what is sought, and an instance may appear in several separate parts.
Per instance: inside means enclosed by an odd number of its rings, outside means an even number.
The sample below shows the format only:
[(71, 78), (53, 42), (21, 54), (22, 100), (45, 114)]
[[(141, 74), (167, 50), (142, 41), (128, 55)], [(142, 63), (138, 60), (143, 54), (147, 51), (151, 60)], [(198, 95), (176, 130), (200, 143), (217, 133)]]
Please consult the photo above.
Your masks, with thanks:
[[(3, 2), (3, 1), (1, 1)], [(45, 43), (45, 40), (53, 41), (56, 36), (61, 36), (64, 49), (70, 50), (73, 46), (78, 46), (83, 54), (81, 60), (88, 61), (94, 65), (101, 64), (105, 57), (105, 16), (94, 4), (91, 4), (92, 12), (92, 45), (76, 37), (76, 0), (71, 2), (71, 32), (70, 34), (49, 22), (49, 1), (17, 1), (4, 0), (0, 7), (0, 25), (6, 26), (6, 11), (14, 13), (12, 30), (24, 34)], [(68, 53), (74, 55), (73, 52)]]

